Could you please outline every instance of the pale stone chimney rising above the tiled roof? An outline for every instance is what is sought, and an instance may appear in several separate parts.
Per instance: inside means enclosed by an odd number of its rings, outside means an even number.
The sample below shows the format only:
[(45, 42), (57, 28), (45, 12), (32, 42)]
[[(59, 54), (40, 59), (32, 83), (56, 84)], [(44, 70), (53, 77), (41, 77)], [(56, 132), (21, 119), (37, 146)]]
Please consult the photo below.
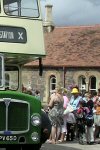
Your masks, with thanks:
[(43, 22), (44, 32), (52, 32), (54, 30), (54, 24), (52, 20), (52, 5), (45, 5), (45, 20)]

